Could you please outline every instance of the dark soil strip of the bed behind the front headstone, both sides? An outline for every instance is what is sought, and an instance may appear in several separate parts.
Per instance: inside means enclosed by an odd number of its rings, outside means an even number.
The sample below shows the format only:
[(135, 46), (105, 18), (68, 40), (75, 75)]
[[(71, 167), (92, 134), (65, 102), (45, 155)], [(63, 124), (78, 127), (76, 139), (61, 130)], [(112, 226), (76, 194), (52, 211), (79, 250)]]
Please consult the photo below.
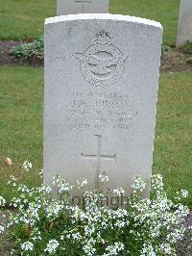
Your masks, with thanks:
[[(23, 64), (31, 66), (43, 66), (42, 60), (34, 59), (30, 63), (23, 59), (14, 59), (9, 55), (12, 46), (16, 46), (22, 41), (0, 41), (0, 65), (2, 64)], [(192, 64), (187, 63), (189, 55), (182, 53), (176, 49), (172, 49), (167, 55), (161, 57), (161, 72), (182, 72), (192, 71)]]

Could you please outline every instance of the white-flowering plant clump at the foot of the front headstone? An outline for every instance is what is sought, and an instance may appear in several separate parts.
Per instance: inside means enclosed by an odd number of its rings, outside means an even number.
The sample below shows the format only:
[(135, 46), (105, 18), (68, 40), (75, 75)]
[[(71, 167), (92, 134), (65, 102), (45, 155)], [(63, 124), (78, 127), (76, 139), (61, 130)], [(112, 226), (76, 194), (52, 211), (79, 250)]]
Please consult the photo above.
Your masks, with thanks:
[[(27, 170), (31, 167), (27, 165)], [(57, 195), (52, 188), (41, 185), (28, 188), (17, 186), (20, 195), (12, 198), (16, 211), (9, 212), (6, 225), (0, 233), (12, 231), (15, 239), (13, 255), (176, 255), (176, 243), (183, 238), (182, 224), (189, 210), (180, 201), (173, 202), (164, 192), (162, 177), (152, 177), (152, 198), (142, 198), (146, 183), (135, 177), (132, 196), (124, 207), (108, 207), (104, 186), (108, 177), (100, 176), (100, 187), (86, 189), (87, 181), (70, 186), (60, 176), (54, 179)], [(79, 192), (77, 191), (79, 190)], [(81, 194), (82, 203), (75, 204), (74, 192)], [(121, 188), (111, 194), (122, 196)], [(186, 191), (177, 193), (187, 196)], [(102, 203), (101, 203), (102, 202)], [(5, 199), (0, 197), (0, 206)]]

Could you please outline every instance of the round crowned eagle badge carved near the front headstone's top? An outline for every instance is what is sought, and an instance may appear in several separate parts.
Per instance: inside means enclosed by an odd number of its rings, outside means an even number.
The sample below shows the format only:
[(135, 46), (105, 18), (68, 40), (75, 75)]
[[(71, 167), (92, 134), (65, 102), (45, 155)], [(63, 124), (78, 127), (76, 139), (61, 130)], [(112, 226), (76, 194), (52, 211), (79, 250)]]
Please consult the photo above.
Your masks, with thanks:
[(101, 31), (95, 36), (95, 43), (84, 53), (76, 53), (84, 79), (94, 87), (108, 87), (123, 75), (127, 56), (111, 44), (108, 32)]

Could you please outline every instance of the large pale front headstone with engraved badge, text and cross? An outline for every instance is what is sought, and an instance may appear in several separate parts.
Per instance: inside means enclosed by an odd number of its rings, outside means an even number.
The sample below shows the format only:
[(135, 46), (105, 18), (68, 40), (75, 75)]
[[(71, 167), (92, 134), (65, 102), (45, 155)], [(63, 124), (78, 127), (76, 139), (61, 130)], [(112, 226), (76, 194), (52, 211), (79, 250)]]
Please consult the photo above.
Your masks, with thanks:
[(44, 182), (130, 189), (151, 178), (161, 25), (112, 14), (46, 19)]

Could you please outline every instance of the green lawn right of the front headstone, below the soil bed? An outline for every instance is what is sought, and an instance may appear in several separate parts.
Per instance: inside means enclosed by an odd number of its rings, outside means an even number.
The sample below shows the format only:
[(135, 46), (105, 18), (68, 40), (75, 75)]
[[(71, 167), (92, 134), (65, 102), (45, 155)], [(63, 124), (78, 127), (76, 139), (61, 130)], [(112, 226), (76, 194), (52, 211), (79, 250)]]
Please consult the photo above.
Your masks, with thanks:
[(170, 195), (180, 189), (190, 192), (192, 208), (192, 72), (160, 77), (154, 173), (161, 173)]

